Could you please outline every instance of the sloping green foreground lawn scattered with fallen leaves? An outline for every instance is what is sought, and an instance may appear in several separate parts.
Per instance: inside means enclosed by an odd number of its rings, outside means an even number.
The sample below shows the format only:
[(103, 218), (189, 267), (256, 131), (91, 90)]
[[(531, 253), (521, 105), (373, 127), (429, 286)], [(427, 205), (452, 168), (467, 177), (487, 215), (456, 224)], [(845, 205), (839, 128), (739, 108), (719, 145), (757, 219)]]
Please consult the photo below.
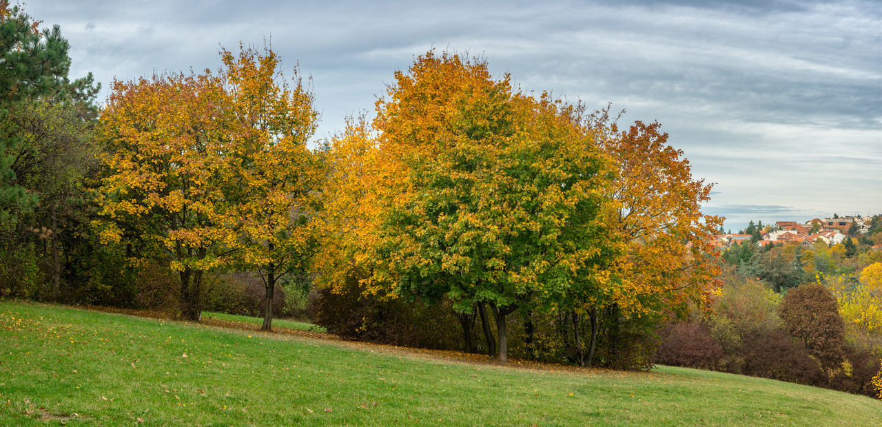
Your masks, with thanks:
[(0, 303), (0, 425), (879, 425), (882, 402), (662, 367), (537, 371)]

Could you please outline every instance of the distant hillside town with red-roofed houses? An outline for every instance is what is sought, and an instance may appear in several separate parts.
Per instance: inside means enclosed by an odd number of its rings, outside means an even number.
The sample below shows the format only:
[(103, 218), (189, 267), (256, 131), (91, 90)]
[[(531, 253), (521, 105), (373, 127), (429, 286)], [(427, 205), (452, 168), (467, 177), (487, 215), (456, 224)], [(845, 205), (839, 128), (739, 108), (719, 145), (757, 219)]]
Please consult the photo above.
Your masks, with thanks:
[[(871, 216), (834, 214), (833, 218), (813, 218), (804, 223), (776, 221), (774, 225), (763, 225), (762, 221), (758, 224), (751, 221), (746, 229), (739, 230), (737, 234), (714, 235), (714, 244), (721, 248), (744, 242), (755, 243), (762, 247), (783, 244), (811, 246), (818, 242), (828, 245), (840, 244), (845, 242), (848, 236), (857, 236), (870, 231), (871, 220)], [(882, 244), (872, 246), (872, 249), (882, 250)]]

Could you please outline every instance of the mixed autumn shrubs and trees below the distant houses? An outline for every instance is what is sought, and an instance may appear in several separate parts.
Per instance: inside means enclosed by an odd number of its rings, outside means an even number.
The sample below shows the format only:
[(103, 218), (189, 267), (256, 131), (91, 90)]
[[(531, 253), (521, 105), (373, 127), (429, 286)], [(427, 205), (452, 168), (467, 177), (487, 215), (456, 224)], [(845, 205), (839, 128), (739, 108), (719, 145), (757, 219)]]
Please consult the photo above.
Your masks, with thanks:
[(878, 397), (882, 251), (871, 244), (882, 240), (882, 216), (848, 239), (729, 248), (719, 296), (662, 329), (659, 363)]

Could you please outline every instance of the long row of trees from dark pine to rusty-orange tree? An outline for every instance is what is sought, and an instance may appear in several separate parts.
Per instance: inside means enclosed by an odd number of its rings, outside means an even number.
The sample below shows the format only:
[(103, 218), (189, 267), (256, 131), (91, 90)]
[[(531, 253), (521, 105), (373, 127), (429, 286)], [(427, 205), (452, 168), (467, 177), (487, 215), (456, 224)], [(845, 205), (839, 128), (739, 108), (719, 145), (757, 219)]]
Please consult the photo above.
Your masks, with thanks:
[(115, 81), (99, 111), (57, 27), (2, 19), (2, 296), (646, 369), (709, 295), (721, 219), (659, 124), (430, 51), (310, 149), (310, 85), (269, 49)]

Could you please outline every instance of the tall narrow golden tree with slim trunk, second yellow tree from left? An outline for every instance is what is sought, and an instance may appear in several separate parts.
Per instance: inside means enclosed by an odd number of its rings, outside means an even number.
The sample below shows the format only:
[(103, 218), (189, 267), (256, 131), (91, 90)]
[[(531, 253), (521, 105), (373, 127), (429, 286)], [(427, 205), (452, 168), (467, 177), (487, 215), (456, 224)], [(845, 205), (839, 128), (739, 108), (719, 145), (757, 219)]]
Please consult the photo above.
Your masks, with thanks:
[(265, 285), (264, 323), (272, 328), (276, 283), (302, 268), (310, 254), (310, 222), (315, 213), (311, 192), (324, 177), (316, 154), (307, 148), (318, 113), (313, 97), (294, 71), (289, 86), (276, 68), (279, 56), (253, 48), (238, 56), (221, 51), (228, 93), (225, 108), (235, 120), (235, 192), (231, 207), (238, 228), (237, 258), (259, 273)]

